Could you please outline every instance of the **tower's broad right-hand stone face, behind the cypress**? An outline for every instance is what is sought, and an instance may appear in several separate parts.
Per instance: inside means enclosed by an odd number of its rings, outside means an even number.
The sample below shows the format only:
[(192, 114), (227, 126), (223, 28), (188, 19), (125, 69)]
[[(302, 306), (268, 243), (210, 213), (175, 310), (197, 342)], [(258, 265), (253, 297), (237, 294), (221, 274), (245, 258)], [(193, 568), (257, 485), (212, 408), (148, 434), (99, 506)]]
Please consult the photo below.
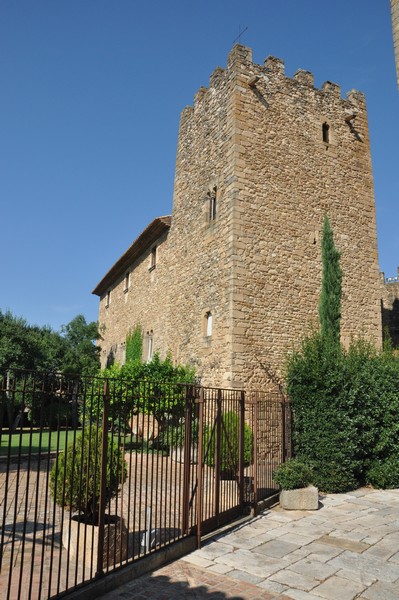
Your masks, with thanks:
[[(342, 252), (342, 339), (381, 340), (373, 179), (364, 96), (315, 89), (236, 48), (235, 383), (281, 375), (290, 346), (318, 319), (325, 214)], [(323, 125), (328, 135), (323, 141)], [(365, 293), (365, 290), (367, 292)]]

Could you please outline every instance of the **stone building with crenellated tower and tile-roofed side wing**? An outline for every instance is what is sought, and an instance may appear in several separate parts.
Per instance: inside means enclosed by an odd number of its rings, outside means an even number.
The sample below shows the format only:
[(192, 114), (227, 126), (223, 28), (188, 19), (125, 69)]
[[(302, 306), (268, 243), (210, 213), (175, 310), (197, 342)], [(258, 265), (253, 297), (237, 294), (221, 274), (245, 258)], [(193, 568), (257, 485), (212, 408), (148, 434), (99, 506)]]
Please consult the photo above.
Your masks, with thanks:
[(155, 219), (93, 292), (103, 365), (123, 362), (139, 325), (144, 359), (170, 351), (206, 385), (279, 379), (317, 324), (326, 214), (342, 253), (342, 341), (362, 333), (380, 344), (365, 98), (235, 46), (182, 112), (172, 216)]

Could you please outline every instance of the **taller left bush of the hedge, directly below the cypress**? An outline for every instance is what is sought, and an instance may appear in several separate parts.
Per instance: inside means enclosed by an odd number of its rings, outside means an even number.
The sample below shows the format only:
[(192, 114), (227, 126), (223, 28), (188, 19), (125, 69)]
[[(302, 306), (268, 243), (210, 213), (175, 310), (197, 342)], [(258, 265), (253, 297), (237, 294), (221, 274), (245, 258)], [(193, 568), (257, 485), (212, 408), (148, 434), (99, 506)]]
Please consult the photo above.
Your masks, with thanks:
[(356, 487), (356, 427), (340, 346), (314, 333), (289, 360), (287, 392), (293, 408), (294, 455), (314, 466), (324, 492)]

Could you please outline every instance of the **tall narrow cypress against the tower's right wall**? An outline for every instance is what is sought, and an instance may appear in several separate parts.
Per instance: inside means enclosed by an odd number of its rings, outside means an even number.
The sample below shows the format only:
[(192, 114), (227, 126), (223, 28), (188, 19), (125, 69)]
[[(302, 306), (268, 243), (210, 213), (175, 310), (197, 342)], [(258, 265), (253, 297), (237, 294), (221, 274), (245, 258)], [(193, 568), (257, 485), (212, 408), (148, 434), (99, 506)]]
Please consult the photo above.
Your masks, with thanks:
[(333, 232), (328, 217), (324, 217), (321, 242), (323, 275), (319, 304), (320, 333), (324, 340), (334, 344), (340, 342), (342, 271), (341, 253), (334, 244)]

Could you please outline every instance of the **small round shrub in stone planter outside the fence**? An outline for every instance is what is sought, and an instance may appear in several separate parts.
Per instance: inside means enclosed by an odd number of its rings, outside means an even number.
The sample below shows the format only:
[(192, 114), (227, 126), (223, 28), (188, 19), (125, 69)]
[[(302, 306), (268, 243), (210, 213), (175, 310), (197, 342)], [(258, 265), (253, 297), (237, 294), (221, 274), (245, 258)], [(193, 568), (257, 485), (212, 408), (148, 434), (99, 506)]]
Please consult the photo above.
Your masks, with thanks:
[(311, 485), (313, 471), (300, 459), (292, 458), (282, 463), (273, 473), (280, 486), (280, 506), (286, 510), (317, 510), (318, 489)]

